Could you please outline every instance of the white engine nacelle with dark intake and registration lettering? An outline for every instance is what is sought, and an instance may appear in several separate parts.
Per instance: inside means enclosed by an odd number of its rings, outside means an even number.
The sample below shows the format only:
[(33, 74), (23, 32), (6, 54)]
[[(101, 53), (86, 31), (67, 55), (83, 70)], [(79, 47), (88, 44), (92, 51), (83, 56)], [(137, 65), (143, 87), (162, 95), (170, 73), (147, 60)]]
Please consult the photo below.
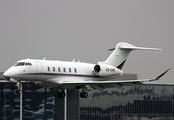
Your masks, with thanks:
[(99, 75), (101, 77), (108, 77), (108, 76), (120, 76), (123, 75), (123, 71), (111, 66), (111, 65), (105, 65), (105, 64), (100, 64), (100, 65), (95, 65), (94, 66), (94, 73), (96, 75)]

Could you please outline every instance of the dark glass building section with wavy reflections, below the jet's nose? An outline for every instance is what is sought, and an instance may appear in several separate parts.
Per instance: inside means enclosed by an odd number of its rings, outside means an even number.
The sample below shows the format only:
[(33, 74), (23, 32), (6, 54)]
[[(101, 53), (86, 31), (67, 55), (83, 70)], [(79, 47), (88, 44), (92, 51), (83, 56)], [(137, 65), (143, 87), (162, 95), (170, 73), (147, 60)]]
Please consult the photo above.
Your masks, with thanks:
[[(23, 120), (54, 120), (55, 91), (33, 83), (23, 85)], [(20, 117), (20, 95), (16, 94), (16, 83), (5, 82), (1, 73), (0, 120), (18, 120)]]

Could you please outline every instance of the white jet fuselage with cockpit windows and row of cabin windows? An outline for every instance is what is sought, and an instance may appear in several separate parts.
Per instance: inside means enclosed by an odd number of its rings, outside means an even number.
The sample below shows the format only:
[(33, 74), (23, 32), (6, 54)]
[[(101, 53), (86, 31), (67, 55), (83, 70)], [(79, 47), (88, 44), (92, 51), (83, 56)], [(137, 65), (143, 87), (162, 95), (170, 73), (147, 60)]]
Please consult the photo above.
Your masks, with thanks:
[[(59, 83), (61, 80), (108, 80), (110, 77), (97, 75), (94, 72), (95, 64), (90, 63), (24, 59), (18, 61), (17, 64), (19, 65), (12, 66), (4, 75), (11, 76), (16, 80), (53, 83)], [(114, 77), (122, 74), (123, 72), (114, 75)]]

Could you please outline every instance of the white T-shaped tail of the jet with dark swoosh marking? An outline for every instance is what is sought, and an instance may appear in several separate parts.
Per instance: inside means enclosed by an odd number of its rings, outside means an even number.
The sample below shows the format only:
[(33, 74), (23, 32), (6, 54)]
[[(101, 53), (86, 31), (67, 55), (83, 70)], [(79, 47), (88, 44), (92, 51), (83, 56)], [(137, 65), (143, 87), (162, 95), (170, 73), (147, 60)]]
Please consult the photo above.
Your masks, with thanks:
[(122, 69), (129, 53), (133, 50), (161, 50), (158, 48), (146, 48), (146, 47), (136, 47), (126, 42), (120, 42), (116, 45), (115, 48), (109, 49), (109, 51), (113, 51), (112, 54), (104, 61), (99, 62), (98, 64), (108, 64), (117, 67), (118, 69)]

